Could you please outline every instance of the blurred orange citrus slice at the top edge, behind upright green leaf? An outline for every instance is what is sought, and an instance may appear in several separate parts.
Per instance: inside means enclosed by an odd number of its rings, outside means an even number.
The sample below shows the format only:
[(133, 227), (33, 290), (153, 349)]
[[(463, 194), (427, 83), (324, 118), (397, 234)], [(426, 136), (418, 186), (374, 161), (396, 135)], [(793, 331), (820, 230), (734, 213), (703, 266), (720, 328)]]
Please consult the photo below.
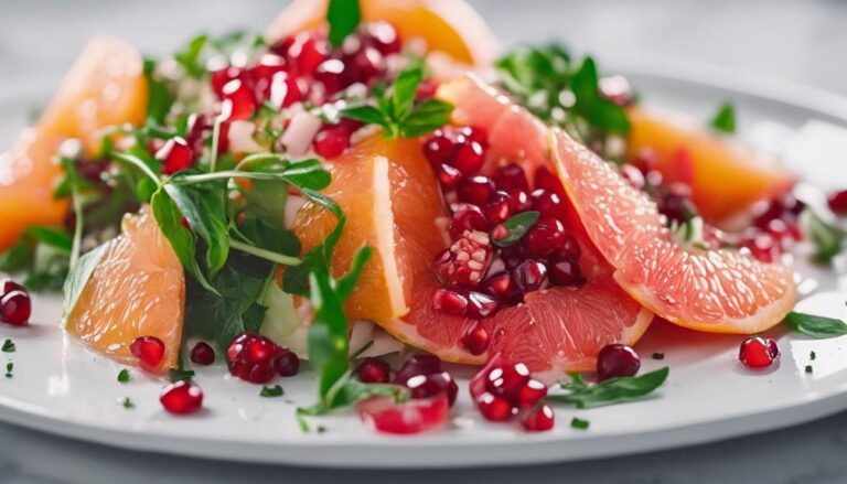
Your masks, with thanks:
[[(424, 39), (428, 51), (443, 52), (469, 65), (489, 65), (497, 41), (480, 15), (462, 0), (361, 0), (362, 18), (392, 23), (404, 40)], [(324, 23), (325, 0), (297, 0), (265, 31), (276, 41)]]

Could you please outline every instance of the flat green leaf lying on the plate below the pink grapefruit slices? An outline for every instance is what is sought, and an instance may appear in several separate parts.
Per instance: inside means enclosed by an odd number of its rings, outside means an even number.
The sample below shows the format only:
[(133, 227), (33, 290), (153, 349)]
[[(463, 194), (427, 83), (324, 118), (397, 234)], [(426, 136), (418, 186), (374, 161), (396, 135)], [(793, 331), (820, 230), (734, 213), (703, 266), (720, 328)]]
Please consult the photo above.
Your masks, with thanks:
[(597, 385), (587, 385), (579, 375), (572, 376), (569, 384), (561, 385), (567, 394), (548, 396), (548, 400), (559, 404), (573, 404), (577, 408), (593, 408), (605, 405), (637, 400), (652, 394), (667, 379), (667, 367), (645, 373), (640, 376), (612, 378)]

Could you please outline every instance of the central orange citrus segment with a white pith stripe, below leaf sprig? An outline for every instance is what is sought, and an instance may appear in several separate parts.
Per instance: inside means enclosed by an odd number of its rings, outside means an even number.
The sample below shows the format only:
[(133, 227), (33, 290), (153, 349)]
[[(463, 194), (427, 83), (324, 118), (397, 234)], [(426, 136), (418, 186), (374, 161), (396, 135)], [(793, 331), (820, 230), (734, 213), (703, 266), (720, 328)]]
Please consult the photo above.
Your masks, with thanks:
[[(329, 163), (332, 184), (324, 193), (347, 215), (347, 225), (332, 259), (339, 276), (355, 252), (374, 252), (347, 300), (350, 319), (372, 320), (392, 331), (409, 311), (416, 275), (429, 268), (444, 247), (436, 218), (441, 200), (417, 140), (371, 138)], [(335, 226), (325, 211), (304, 205), (293, 229), (308, 250), (323, 243)]]

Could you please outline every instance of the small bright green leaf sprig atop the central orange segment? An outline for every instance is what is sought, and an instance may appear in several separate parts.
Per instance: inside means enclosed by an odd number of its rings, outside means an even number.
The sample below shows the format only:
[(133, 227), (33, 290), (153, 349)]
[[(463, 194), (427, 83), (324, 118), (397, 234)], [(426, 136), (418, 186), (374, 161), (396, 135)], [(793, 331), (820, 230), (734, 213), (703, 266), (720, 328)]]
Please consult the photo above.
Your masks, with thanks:
[(453, 107), (438, 99), (416, 104), (415, 96), (422, 79), (422, 67), (406, 68), (394, 82), (390, 97), (377, 95), (376, 104), (353, 105), (343, 109), (341, 116), (382, 126), (387, 138), (417, 138), (433, 131), (450, 121)]

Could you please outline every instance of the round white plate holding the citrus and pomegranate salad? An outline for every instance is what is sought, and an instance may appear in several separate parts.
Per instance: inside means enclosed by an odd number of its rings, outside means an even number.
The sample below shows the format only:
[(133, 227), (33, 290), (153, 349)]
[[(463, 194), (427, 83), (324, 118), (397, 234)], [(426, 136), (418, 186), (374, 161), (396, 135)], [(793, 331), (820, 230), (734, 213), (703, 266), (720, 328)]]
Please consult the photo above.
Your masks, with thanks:
[[(660, 64), (662, 68), (655, 71), (660, 75), (644, 71), (648, 63), (632, 65), (637, 68), (619, 71), (630, 75), (648, 101), (706, 117), (719, 100), (732, 99), (746, 131), (771, 144), (774, 139), (793, 139), (794, 130), (812, 118), (847, 126), (847, 101), (818, 92), (760, 79), (751, 84), (737, 73), (720, 69), (668, 74), (667, 64)], [(742, 87), (728, 87), (727, 79)], [(774, 90), (783, 100), (773, 96)], [(770, 97), (758, 93), (769, 93)], [(3, 146), (39, 98), (43, 96), (0, 101)], [(769, 122), (760, 122), (765, 120)], [(832, 139), (838, 142), (837, 136)], [(790, 149), (800, 141), (775, 144)], [(844, 173), (822, 160), (803, 160), (810, 179), (826, 180)], [(815, 283), (817, 289), (798, 310), (846, 318), (844, 278), (839, 288), (839, 278), (833, 272), (808, 267), (801, 271), (810, 280), (803, 289)], [(462, 386), (453, 426), (443, 432), (414, 438), (378, 435), (363, 429), (353, 413), (344, 413), (322, 419), (324, 433), (303, 434), (293, 412), (298, 405), (314, 398), (315, 385), (309, 374), (278, 380), (286, 389), (285, 397), (267, 399), (259, 397), (260, 387), (230, 378), (223, 367), (201, 368), (196, 380), (206, 395), (205, 410), (174, 418), (158, 401), (162, 380), (132, 372), (128, 385), (118, 384), (121, 366), (66, 338), (57, 327), (60, 314), (58, 298), (36, 295), (30, 327), (0, 326), (0, 338), (11, 337), (18, 346), (15, 353), (0, 354), (0, 365), (14, 362), (14, 377), (0, 377), (0, 419), (146, 451), (324, 467), (529, 464), (714, 441), (847, 409), (847, 337), (812, 341), (776, 333), (782, 349), (780, 365), (768, 372), (749, 372), (737, 361), (739, 336), (698, 335), (654, 325), (637, 351), (644, 370), (671, 367), (669, 380), (661, 391), (648, 400), (593, 410), (558, 407), (558, 426), (551, 432), (526, 434), (510, 424), (482, 421)], [(817, 355), (814, 362), (810, 362), (811, 351)], [(666, 358), (653, 361), (653, 352), (662, 352)], [(810, 363), (814, 372), (806, 374)], [(135, 409), (120, 405), (125, 397), (132, 399)], [(568, 422), (573, 416), (589, 420), (590, 429), (571, 429)]]

